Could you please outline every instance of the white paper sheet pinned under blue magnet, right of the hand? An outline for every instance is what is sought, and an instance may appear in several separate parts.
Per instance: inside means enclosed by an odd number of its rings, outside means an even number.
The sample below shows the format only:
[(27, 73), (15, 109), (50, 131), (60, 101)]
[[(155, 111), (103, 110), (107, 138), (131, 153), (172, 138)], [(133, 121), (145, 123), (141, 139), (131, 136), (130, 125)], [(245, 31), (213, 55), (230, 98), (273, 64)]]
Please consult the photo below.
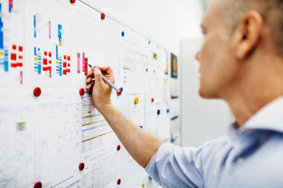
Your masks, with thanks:
[(145, 93), (145, 74), (149, 63), (148, 41), (120, 25), (120, 82), (125, 94)]

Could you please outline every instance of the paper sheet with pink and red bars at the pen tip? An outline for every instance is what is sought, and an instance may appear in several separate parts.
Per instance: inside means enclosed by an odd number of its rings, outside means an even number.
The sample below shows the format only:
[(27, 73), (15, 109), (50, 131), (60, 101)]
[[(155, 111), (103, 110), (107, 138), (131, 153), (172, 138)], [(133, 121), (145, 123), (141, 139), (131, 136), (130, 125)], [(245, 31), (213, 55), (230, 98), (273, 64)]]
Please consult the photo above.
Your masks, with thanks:
[(77, 2), (72, 12), (72, 87), (84, 88), (88, 64), (105, 65), (104, 25), (100, 13)]

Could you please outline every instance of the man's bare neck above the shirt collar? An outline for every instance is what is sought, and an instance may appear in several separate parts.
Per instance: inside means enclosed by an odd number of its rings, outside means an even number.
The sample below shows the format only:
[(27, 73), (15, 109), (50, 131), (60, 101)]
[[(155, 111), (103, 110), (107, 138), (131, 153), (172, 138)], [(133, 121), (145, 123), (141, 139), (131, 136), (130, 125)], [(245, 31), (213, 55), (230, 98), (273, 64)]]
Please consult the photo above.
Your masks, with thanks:
[[(271, 101), (283, 96), (283, 62), (269, 62), (269, 67), (247, 73), (248, 77), (235, 83), (223, 98), (239, 124), (245, 122)], [(270, 65), (273, 64), (273, 65)]]

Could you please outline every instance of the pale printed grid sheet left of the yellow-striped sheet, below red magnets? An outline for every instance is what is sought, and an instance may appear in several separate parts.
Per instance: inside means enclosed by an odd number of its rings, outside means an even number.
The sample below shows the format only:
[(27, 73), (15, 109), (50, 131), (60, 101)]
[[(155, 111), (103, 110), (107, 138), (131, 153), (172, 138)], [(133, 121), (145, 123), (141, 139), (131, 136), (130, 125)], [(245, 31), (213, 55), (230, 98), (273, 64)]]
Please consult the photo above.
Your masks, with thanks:
[(80, 104), (39, 109), (39, 179), (77, 166), (80, 154)]

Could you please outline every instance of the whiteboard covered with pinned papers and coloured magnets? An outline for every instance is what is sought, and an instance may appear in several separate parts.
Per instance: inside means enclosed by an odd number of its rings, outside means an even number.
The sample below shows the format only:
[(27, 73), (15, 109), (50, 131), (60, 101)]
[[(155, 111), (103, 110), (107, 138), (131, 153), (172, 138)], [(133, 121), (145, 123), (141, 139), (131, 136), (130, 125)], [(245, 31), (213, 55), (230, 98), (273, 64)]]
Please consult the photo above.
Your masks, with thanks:
[(170, 53), (87, 1), (0, 5), (0, 187), (155, 186), (83, 88), (111, 65), (113, 105), (170, 141)]

